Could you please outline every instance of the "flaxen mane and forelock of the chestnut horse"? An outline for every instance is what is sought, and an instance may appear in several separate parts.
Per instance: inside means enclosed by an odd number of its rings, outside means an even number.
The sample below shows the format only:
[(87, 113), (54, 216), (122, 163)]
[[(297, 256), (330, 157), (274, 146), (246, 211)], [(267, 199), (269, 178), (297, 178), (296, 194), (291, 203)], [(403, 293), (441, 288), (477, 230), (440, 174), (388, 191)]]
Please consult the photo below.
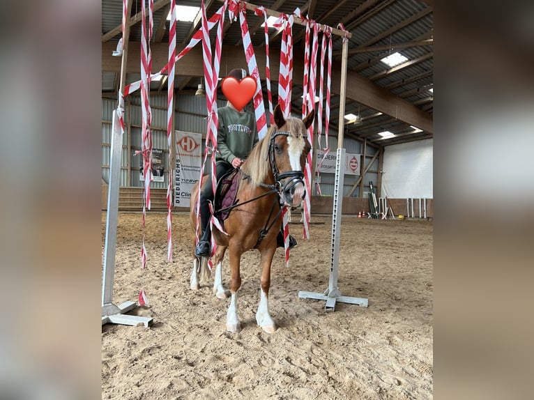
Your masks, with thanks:
[[(259, 185), (259, 183), (266, 180), (268, 174), (270, 173), (269, 166), (269, 141), (270, 137), (273, 134), (276, 125), (273, 124), (269, 128), (267, 134), (263, 139), (261, 139), (256, 146), (252, 149), (252, 152), (247, 157), (246, 162), (243, 164), (241, 169), (245, 174), (249, 175), (252, 178), (252, 185)], [(305, 132), (305, 127), (303, 121), (299, 118), (288, 116), (286, 118), (286, 123), (282, 128), (277, 129), (277, 131), (289, 132), (290, 137), (295, 139), (303, 138)], [(302, 140), (302, 146), (304, 146), (304, 141)]]

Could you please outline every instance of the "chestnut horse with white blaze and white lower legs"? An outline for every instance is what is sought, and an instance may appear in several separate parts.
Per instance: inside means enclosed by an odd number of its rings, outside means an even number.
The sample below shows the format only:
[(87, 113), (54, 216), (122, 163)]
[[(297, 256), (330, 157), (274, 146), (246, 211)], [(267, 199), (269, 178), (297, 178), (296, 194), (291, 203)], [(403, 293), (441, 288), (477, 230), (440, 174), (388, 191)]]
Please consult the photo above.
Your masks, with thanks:
[[(306, 139), (306, 130), (313, 123), (314, 111), (300, 120), (288, 116), (284, 118), (280, 106), (274, 112), (275, 124), (266, 136), (252, 149), (249, 157), (241, 166), (238, 177), (238, 202), (231, 207), (224, 220), (222, 233), (215, 226), (212, 228), (217, 249), (213, 256), (215, 280), (213, 291), (218, 298), (226, 298), (222, 287), (221, 268), (224, 252), (228, 249), (230, 257), (230, 292), (231, 302), (227, 312), (227, 330), (239, 332), (241, 324), (238, 318), (238, 290), (241, 286), (239, 272), (241, 254), (250, 249), (258, 249), (261, 263), (261, 294), (256, 313), (258, 325), (268, 333), (275, 331), (275, 323), (268, 310), (268, 293), (270, 286), (270, 264), (275, 255), (276, 236), (280, 231), (282, 206), (300, 205), (306, 196), (303, 183), (303, 170), (310, 144)], [(204, 179), (203, 179), (204, 182)], [(195, 185), (191, 194), (191, 225), (193, 229), (193, 253), (197, 243), (197, 195), (199, 186)], [(207, 260), (195, 258), (191, 275), (191, 289), (199, 289), (199, 274), (209, 276)]]

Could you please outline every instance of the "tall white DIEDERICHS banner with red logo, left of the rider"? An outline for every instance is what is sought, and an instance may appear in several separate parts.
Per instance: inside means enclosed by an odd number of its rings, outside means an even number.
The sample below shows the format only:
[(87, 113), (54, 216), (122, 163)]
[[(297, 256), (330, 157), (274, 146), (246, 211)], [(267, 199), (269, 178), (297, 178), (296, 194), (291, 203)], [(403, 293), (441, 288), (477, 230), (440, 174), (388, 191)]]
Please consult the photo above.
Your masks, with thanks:
[(176, 174), (174, 175), (174, 206), (189, 207), (193, 185), (201, 169), (202, 135), (176, 130)]

